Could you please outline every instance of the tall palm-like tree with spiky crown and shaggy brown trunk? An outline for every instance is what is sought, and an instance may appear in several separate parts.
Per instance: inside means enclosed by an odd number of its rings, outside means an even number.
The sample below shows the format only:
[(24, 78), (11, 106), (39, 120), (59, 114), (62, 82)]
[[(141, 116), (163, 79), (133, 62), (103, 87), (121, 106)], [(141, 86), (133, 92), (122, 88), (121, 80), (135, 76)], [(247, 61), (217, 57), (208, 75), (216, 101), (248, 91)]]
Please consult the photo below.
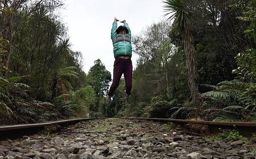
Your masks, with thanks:
[(198, 68), (195, 57), (194, 39), (190, 30), (192, 11), (189, 11), (185, 0), (166, 0), (163, 1), (163, 3), (165, 3), (163, 6), (164, 11), (168, 12), (164, 14), (164, 16), (171, 15), (167, 20), (174, 19), (172, 28), (175, 28), (178, 32), (180, 32), (183, 40), (186, 54), (186, 66), (188, 69), (190, 95), (192, 102), (196, 103), (198, 93)]

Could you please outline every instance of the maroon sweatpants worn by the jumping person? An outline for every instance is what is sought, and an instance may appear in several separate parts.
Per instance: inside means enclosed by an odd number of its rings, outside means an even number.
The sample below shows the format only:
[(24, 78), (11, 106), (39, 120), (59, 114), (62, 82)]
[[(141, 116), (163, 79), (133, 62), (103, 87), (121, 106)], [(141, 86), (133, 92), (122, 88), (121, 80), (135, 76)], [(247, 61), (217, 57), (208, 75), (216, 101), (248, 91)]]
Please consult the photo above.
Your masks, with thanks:
[(116, 58), (114, 62), (113, 81), (108, 91), (108, 96), (111, 97), (119, 85), (120, 79), (124, 74), (126, 94), (131, 95), (132, 86), (132, 62), (131, 59)]

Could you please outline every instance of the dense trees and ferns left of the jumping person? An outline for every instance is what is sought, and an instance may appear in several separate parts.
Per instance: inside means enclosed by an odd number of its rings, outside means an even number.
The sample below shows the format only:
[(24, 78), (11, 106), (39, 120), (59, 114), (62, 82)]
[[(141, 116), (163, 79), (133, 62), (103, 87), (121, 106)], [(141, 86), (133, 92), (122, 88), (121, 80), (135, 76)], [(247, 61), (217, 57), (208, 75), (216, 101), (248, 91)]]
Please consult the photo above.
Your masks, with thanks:
[(83, 118), (102, 109), (111, 74), (100, 60), (88, 75), (82, 71), (81, 53), (70, 49), (58, 17), (63, 5), (0, 0), (0, 125)]

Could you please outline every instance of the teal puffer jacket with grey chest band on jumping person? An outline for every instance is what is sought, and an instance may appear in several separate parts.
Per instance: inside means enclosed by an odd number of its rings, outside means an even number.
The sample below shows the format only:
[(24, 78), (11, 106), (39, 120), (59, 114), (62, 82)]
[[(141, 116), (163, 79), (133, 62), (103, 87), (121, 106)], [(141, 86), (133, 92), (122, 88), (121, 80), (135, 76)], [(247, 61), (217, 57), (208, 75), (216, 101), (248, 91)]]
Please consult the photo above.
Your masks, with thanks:
[(111, 39), (114, 46), (114, 57), (129, 56), (131, 57), (131, 30), (127, 23), (124, 26), (128, 29), (128, 34), (116, 34), (117, 23), (113, 22), (111, 29)]

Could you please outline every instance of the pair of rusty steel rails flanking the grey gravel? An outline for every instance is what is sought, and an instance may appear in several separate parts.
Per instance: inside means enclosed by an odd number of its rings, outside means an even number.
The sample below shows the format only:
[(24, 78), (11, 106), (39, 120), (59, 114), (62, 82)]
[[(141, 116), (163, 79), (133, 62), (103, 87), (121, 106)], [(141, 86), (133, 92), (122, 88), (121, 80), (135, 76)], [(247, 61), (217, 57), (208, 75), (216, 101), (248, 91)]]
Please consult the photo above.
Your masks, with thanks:
[[(81, 121), (97, 120), (105, 118), (82, 118), (61, 120), (55, 122), (36, 123), (36, 124), (23, 124), (23, 125), (3, 125), (0, 126), (0, 139), (17, 138), (23, 135), (31, 135), (38, 131), (57, 131), (62, 126), (72, 125)], [(214, 134), (219, 133), (225, 129), (236, 129), (244, 136), (252, 136), (256, 133), (256, 122), (209, 122), (209, 121), (196, 121), (196, 120), (182, 120), (182, 119), (160, 119), (160, 118), (120, 118), (132, 120), (148, 120), (155, 122), (172, 122), (179, 125), (184, 131), (195, 134)], [(220, 130), (221, 129), (221, 130)]]

